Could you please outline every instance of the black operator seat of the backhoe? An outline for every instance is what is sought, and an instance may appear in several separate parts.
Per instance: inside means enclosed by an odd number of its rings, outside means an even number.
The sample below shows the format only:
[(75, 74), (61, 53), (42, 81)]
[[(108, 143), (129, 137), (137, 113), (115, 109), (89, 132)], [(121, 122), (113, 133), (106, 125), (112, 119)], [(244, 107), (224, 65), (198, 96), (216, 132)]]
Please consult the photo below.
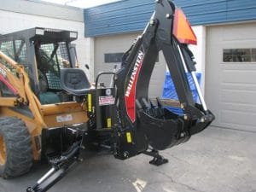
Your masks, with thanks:
[(74, 96), (84, 96), (90, 91), (90, 82), (79, 68), (61, 69), (61, 88)]

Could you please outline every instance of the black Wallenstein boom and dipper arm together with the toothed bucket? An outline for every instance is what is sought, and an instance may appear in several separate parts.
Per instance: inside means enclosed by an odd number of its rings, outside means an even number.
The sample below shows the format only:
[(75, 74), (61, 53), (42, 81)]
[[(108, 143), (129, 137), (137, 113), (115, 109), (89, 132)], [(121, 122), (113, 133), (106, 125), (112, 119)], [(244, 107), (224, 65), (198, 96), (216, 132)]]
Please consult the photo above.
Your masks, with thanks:
[[(194, 56), (188, 48), (193, 39), (180, 40), (177, 34), (178, 22), (184, 21), (178, 20), (179, 11), (169, 0), (157, 1), (148, 26), (123, 57), (116, 80), (121, 127), (115, 154), (119, 159), (142, 153), (148, 145), (162, 150), (186, 142), (214, 119), (195, 78)], [(159, 98), (156, 102), (148, 99), (148, 85), (160, 50), (172, 74), (183, 115), (163, 108)], [(195, 81), (200, 104), (193, 100), (186, 70)]]

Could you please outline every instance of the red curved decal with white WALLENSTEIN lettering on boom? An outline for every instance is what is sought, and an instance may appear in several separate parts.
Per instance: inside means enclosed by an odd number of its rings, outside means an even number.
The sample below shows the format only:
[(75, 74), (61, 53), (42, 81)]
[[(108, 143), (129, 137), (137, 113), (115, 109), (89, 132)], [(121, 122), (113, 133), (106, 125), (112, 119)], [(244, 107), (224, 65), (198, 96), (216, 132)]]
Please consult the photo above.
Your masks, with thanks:
[(135, 121), (136, 112), (135, 112), (135, 100), (136, 100), (136, 87), (137, 87), (137, 78), (140, 73), (141, 67), (143, 65), (144, 53), (142, 50), (139, 51), (137, 55), (136, 63), (131, 72), (131, 78), (129, 80), (128, 86), (125, 90), (125, 105), (126, 112), (131, 119), (132, 123)]

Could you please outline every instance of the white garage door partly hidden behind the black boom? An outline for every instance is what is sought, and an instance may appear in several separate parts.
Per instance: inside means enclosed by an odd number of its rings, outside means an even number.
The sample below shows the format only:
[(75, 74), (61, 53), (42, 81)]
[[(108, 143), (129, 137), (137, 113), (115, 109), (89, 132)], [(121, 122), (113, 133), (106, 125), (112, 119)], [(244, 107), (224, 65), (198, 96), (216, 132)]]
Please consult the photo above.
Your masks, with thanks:
[[(120, 55), (131, 47), (138, 35), (139, 33), (132, 33), (95, 38), (95, 77), (100, 72), (112, 72), (115, 64), (120, 65)], [(162, 95), (165, 74), (166, 62), (160, 54), (159, 62), (156, 63), (150, 79), (150, 97)], [(102, 78), (101, 81), (109, 82), (109, 79)]]

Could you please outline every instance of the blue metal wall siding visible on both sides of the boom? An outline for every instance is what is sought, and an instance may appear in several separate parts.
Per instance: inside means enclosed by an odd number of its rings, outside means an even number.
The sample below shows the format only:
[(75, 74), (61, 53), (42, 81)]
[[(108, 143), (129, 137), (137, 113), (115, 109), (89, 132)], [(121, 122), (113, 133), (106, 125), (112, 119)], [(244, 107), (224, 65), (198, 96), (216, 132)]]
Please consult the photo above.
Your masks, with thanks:
[[(192, 25), (256, 20), (256, 0), (175, 0)], [(154, 12), (154, 0), (123, 0), (84, 9), (85, 37), (139, 32)]]

